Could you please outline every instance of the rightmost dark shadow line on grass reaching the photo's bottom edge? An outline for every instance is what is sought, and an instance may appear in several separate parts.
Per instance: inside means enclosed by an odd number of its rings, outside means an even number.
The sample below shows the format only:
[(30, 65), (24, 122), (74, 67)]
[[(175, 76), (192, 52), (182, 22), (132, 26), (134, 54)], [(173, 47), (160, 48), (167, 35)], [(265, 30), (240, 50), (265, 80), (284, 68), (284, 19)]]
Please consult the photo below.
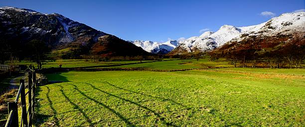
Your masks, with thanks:
[[(119, 96), (117, 96), (117, 95), (108, 93), (108, 92), (106, 92), (106, 91), (104, 91), (104, 90), (98, 89), (98, 88), (96, 88), (94, 85), (92, 85), (92, 84), (90, 84), (90, 83), (85, 83), (85, 82), (81, 82), (81, 83), (88, 84), (88, 85), (90, 85), (93, 89), (96, 89), (96, 90), (98, 90), (98, 91), (100, 91), (100, 92), (103, 92), (103, 93), (105, 93), (105, 94), (107, 94), (107, 95), (110, 95), (110, 96), (112, 96), (112, 97), (116, 97), (116, 98), (118, 98), (118, 99), (127, 101), (127, 102), (129, 102), (129, 103), (131, 103), (131, 104), (135, 104), (135, 105), (137, 105), (138, 107), (141, 107), (141, 108), (143, 108), (143, 109), (146, 109), (146, 110), (152, 112), (155, 116), (157, 116), (158, 118), (160, 118), (161, 122), (162, 122), (163, 124), (165, 124), (166, 126), (178, 127), (178, 126), (174, 125), (174, 124), (171, 123), (171, 122), (166, 122), (166, 120), (165, 120), (164, 117), (160, 116), (159, 113), (153, 111), (152, 109), (150, 109), (150, 108), (148, 108), (148, 107), (146, 107), (146, 106), (140, 105), (140, 104), (138, 104), (138, 103), (136, 103), (136, 102), (133, 102), (133, 101), (131, 101), (131, 100), (127, 100), (127, 99), (122, 98), (122, 97), (119, 97)], [(70, 85), (73, 85), (75, 88), (77, 88), (76, 85), (74, 85), (74, 84), (70, 84)], [(78, 90), (78, 89), (77, 89), (77, 90)], [(80, 90), (78, 90), (78, 91), (81, 92)], [(94, 100), (94, 101), (96, 101), (96, 100)]]

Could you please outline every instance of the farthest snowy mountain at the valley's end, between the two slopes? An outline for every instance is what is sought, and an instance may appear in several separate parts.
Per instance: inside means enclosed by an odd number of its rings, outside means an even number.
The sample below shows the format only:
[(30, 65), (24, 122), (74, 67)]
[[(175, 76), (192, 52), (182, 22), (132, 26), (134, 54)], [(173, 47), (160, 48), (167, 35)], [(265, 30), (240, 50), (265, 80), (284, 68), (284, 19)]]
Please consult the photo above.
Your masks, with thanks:
[(153, 54), (167, 54), (179, 45), (176, 40), (170, 40), (164, 43), (139, 40), (129, 42)]

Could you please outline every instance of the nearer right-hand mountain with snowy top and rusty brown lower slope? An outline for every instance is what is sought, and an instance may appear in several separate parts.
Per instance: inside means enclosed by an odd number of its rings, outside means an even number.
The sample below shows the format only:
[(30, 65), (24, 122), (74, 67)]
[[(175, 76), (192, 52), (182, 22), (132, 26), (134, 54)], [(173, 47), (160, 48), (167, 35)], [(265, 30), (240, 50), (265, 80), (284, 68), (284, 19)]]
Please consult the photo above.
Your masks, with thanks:
[[(213, 50), (217, 56), (244, 55), (269, 57), (294, 55), (302, 60), (305, 53), (305, 12), (285, 13), (246, 29), (238, 37)], [(287, 57), (287, 56), (285, 56)]]

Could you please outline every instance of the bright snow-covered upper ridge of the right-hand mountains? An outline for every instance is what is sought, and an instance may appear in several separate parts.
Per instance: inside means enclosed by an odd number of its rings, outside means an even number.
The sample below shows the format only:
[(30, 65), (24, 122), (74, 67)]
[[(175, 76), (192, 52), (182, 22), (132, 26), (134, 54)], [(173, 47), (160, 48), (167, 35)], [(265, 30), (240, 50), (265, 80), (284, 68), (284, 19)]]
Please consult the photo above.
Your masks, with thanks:
[(232, 39), (241, 41), (247, 36), (274, 36), (277, 34), (292, 34), (297, 31), (304, 30), (305, 12), (285, 13), (279, 17), (259, 25), (247, 27), (235, 27), (231, 25), (223, 25), (215, 33), (211, 31), (204, 32), (199, 37), (190, 37), (180, 41), (180, 45), (174, 49), (175, 54), (194, 51), (211, 51), (217, 47), (221, 47)]

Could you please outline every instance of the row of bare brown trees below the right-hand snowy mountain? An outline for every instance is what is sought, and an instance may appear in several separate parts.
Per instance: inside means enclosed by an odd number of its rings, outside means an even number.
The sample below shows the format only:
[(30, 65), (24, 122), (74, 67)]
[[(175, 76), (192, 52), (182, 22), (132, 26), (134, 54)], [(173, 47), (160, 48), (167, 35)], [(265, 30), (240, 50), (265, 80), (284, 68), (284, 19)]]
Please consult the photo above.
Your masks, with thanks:
[(232, 51), (210, 52), (210, 59), (225, 58), (234, 67), (270, 67), (298, 68), (305, 60), (305, 46), (291, 45), (274, 51), (258, 51), (254, 48), (235, 49)]

